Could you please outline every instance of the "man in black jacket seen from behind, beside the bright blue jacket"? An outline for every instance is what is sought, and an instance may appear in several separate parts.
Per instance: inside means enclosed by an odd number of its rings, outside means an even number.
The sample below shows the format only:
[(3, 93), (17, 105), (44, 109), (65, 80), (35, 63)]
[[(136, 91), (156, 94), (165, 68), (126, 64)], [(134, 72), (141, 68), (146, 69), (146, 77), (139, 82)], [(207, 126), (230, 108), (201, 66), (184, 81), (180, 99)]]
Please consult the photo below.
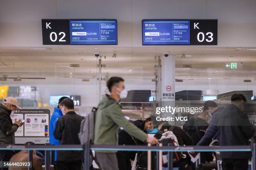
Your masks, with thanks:
[[(78, 133), (83, 119), (74, 112), (74, 101), (67, 98), (60, 103), (64, 116), (56, 122), (54, 137), (60, 145), (80, 145)], [(82, 151), (57, 151), (56, 170), (80, 170), (82, 165)]]

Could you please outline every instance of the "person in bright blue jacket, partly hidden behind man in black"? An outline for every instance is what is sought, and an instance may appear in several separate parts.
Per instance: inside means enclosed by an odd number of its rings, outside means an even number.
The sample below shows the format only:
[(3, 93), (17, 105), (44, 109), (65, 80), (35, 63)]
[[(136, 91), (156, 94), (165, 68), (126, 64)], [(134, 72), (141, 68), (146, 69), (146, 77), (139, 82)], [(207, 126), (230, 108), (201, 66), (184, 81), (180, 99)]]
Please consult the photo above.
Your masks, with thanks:
[[(59, 117), (63, 116), (62, 112), (61, 112), (61, 106), (60, 103), (62, 100), (69, 98), (69, 97), (61, 97), (59, 99), (59, 103), (58, 106), (54, 108), (54, 112), (51, 115), (51, 121), (50, 121), (50, 127), (49, 127), (49, 136), (50, 136), (50, 144), (51, 145), (59, 145), (59, 140), (57, 140), (54, 137), (54, 130), (55, 130), (55, 125), (57, 120), (59, 119)], [(55, 150), (54, 152), (54, 161), (57, 160), (57, 152)]]

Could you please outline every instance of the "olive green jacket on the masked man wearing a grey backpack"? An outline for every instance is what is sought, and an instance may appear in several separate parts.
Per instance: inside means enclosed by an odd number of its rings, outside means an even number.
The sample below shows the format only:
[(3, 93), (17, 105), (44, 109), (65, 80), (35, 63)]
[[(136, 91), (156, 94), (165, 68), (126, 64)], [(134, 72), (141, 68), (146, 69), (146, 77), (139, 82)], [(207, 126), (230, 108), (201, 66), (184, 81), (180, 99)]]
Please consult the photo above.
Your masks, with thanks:
[[(118, 102), (109, 95), (104, 95), (98, 105), (95, 118), (94, 144), (118, 144), (118, 128), (133, 135), (138, 140), (145, 141), (147, 134), (125, 119)], [(116, 153), (116, 151), (97, 151), (101, 153)]]

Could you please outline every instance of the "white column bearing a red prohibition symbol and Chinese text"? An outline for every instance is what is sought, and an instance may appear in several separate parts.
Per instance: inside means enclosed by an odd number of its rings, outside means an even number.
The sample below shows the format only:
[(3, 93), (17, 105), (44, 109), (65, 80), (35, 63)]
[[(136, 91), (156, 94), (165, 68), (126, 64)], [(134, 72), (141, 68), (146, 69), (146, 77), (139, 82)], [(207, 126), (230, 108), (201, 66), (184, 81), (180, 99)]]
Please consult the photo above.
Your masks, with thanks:
[[(161, 57), (161, 107), (175, 107), (175, 57)], [(161, 117), (175, 117), (172, 112), (162, 112)], [(174, 118), (173, 118), (174, 119)], [(174, 121), (169, 121), (174, 125)]]

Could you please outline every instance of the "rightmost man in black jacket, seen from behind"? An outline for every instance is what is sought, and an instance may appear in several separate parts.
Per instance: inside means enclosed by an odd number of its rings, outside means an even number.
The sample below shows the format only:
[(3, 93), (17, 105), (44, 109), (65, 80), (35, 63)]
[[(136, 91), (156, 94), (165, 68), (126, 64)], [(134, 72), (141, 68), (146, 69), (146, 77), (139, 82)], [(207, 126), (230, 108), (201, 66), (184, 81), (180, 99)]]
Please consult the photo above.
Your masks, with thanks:
[[(246, 97), (234, 94), (231, 104), (225, 107), (218, 116), (218, 133), (220, 146), (249, 145), (249, 139), (254, 135), (253, 125), (244, 113)], [(222, 152), (223, 170), (247, 170), (251, 152)]]

